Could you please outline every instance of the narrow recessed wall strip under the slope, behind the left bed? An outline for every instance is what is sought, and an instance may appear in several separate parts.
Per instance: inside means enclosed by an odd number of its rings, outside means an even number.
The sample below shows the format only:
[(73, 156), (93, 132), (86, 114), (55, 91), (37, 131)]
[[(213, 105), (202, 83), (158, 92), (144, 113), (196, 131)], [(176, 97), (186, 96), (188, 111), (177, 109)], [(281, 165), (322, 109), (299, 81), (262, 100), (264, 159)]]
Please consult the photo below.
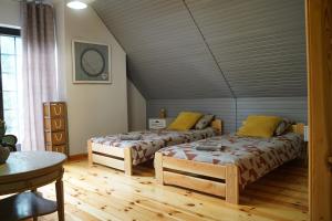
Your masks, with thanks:
[(146, 101), (129, 80), (127, 94), (129, 130), (144, 130), (146, 129)]

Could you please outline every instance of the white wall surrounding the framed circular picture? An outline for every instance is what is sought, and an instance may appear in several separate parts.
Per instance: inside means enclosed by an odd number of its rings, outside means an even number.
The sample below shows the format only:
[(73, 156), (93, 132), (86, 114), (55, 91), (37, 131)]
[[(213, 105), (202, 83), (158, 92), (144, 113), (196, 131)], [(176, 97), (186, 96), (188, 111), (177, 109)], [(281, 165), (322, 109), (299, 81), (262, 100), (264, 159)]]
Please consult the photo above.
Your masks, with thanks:
[[(68, 102), (70, 155), (86, 152), (92, 136), (127, 131), (126, 54), (90, 7), (72, 10), (54, 3), (58, 21), (60, 95)], [(112, 84), (72, 83), (72, 40), (107, 43)]]

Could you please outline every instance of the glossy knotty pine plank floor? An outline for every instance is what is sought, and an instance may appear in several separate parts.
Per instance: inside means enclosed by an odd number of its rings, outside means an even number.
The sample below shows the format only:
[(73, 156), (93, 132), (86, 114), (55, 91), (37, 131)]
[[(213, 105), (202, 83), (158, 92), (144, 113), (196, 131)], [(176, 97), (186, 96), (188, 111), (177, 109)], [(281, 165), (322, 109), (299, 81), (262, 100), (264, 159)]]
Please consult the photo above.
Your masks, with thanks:
[[(149, 166), (151, 167), (151, 166)], [(240, 206), (175, 187), (156, 185), (154, 170), (134, 177), (87, 161), (65, 166), (65, 218), (70, 220), (309, 220), (307, 169), (286, 165), (249, 186)], [(54, 199), (54, 185), (39, 189)], [(56, 213), (39, 220), (58, 220)]]

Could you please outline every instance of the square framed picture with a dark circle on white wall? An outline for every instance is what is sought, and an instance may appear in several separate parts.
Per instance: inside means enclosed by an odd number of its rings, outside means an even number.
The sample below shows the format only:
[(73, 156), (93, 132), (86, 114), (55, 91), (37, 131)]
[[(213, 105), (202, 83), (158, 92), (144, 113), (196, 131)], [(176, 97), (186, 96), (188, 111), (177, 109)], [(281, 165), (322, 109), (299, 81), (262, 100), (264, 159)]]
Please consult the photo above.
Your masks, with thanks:
[(111, 46), (73, 40), (73, 83), (111, 84)]

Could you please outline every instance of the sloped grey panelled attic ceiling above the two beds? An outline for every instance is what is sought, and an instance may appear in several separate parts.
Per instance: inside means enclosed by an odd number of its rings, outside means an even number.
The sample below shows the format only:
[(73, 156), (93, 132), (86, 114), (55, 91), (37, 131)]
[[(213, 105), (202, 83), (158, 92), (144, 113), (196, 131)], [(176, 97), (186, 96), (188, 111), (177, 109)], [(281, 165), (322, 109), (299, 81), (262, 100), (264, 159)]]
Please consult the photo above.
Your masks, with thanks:
[(302, 0), (95, 0), (93, 8), (148, 99), (307, 95)]

